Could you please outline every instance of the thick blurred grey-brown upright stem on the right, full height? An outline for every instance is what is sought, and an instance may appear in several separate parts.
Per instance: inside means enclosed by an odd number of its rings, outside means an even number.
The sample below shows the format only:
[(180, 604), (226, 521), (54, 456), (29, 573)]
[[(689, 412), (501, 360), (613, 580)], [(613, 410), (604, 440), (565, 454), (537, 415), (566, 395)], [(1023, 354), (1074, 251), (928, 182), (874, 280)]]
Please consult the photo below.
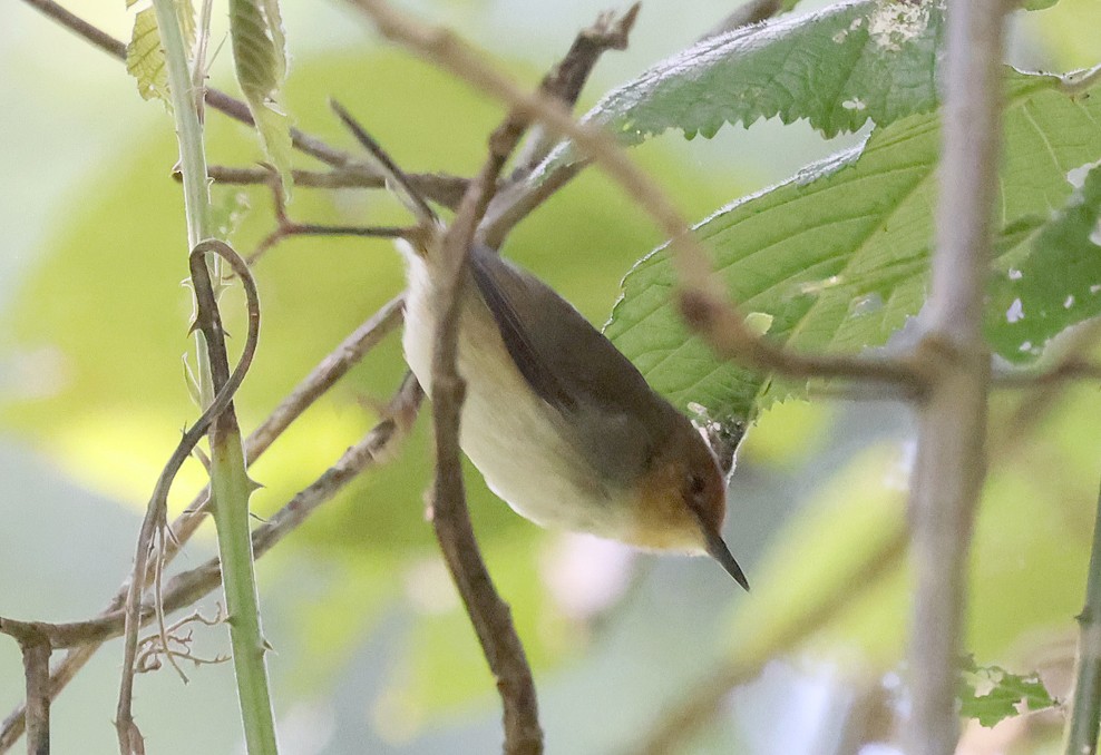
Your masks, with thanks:
[(1004, 0), (952, 0), (936, 251), (922, 324), (935, 365), (918, 408), (910, 488), (915, 577), (909, 646), (909, 755), (952, 755), (974, 511), (986, 475), (990, 274), (1003, 100)]

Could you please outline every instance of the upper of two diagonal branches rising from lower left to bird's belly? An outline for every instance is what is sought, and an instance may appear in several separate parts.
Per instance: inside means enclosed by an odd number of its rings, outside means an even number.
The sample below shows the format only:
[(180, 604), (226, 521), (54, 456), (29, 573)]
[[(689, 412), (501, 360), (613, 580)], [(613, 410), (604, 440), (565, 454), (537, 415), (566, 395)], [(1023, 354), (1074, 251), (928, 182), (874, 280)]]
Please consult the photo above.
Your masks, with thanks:
[[(264, 422), (252, 432), (245, 440), (245, 459), (250, 464), (254, 463), (271, 444), (309, 409), (314, 401), (322, 396), (333, 384), (337, 383), (348, 371), (359, 363), (363, 356), (373, 349), (388, 333), (401, 324), (401, 297), (398, 297), (379, 312), (372, 315), (367, 322), (360, 325), (351, 335), (344, 339), (337, 349), (327, 355), (305, 379), (300, 382), (294, 390), (272, 411)], [(206, 516), (205, 501), (207, 492), (204, 489), (196, 496), (184, 513), (177, 517), (170, 526), (175, 540), (168, 540), (165, 546), (164, 560), (170, 562), (184, 543), (191, 539), (198, 529)], [(263, 529), (263, 528), (261, 528)], [(153, 579), (153, 570), (146, 572), (145, 585)], [(169, 585), (170, 587), (170, 585)], [(213, 588), (212, 588), (213, 589)], [(110, 616), (121, 616), (119, 608), (126, 600), (127, 585), (119, 588), (119, 591), (107, 604), (97, 619)], [(167, 595), (166, 595), (167, 598)], [(148, 614), (146, 616), (149, 616)], [(66, 625), (53, 625), (65, 627)], [(121, 625), (119, 625), (121, 627)], [(57, 665), (50, 677), (50, 695), (57, 697), (58, 694), (72, 680), (77, 673), (84, 668), (85, 664), (96, 654), (100, 643), (105, 639), (117, 636), (121, 629), (114, 635), (105, 635), (103, 639), (91, 640), (92, 634), (81, 635), (80, 627), (74, 627), (74, 634), (68, 635), (71, 639), (58, 639), (55, 647), (70, 647), (79, 641), (90, 644), (75, 647), (66, 654), (65, 658)], [(23, 707), (12, 710), (0, 725), (0, 753), (7, 752), (23, 733)]]

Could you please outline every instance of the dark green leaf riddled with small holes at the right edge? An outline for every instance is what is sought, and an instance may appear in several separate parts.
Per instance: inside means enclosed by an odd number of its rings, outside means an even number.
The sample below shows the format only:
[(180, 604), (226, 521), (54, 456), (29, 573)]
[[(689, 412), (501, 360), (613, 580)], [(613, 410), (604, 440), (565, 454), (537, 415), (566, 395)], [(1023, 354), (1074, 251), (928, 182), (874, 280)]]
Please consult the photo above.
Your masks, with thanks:
[(1066, 178), (1076, 184), (1066, 205), (995, 278), (986, 331), (1011, 361), (1032, 360), (1053, 336), (1101, 314), (1101, 167)]

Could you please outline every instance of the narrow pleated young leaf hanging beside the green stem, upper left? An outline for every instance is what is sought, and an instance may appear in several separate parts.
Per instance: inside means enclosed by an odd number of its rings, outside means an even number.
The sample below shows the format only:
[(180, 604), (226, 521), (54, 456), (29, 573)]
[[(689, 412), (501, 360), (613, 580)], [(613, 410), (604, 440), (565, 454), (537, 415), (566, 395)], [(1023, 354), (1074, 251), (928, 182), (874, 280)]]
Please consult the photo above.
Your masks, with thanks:
[(267, 159), (291, 187), (291, 121), (281, 105), (285, 37), (277, 0), (231, 0), (230, 31), (237, 82), (256, 121)]

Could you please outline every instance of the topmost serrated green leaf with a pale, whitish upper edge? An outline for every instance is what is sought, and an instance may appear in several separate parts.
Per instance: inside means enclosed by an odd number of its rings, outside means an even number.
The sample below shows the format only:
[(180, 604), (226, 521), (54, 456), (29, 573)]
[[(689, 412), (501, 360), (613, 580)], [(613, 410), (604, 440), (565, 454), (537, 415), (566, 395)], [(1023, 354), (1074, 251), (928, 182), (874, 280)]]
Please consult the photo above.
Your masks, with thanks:
[(625, 144), (669, 128), (807, 119), (825, 136), (937, 105), (939, 2), (861, 0), (708, 39), (612, 91), (587, 119)]

